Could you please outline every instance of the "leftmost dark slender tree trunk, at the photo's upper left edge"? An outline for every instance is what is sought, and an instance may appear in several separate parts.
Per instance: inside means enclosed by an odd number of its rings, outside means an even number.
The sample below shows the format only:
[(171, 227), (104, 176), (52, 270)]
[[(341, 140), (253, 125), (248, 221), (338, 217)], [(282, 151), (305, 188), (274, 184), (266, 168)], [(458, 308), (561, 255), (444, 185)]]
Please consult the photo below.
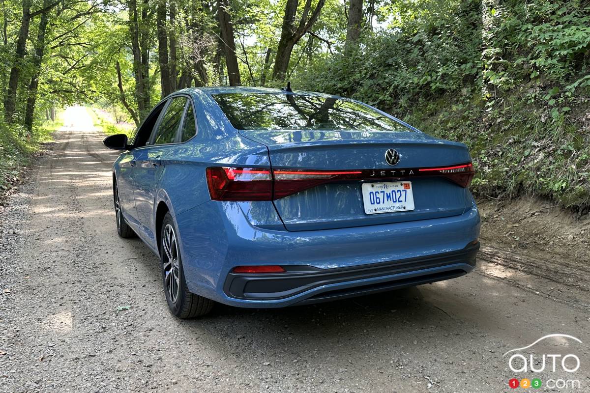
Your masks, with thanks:
[(4, 98), (4, 118), (9, 123), (14, 117), (17, 104), (18, 78), (20, 76), (22, 62), (25, 58), (27, 38), (29, 35), (29, 24), (31, 22), (31, 0), (22, 1), (22, 22), (18, 31), (17, 48), (14, 55), (14, 64), (10, 70), (6, 97)]

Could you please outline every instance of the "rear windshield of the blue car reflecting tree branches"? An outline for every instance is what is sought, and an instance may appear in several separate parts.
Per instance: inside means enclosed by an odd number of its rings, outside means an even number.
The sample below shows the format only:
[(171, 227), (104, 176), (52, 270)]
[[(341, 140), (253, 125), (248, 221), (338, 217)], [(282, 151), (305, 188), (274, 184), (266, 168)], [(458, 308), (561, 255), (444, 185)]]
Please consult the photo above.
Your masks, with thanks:
[(303, 94), (214, 94), (238, 130), (357, 130), (412, 132), (411, 128), (350, 100)]

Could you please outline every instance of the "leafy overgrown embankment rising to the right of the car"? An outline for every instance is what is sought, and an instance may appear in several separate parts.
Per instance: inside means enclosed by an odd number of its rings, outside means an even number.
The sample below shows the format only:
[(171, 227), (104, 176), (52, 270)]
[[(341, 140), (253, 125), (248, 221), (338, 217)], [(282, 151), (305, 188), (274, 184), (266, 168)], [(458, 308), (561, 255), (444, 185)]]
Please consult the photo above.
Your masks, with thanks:
[(389, 29), (365, 35), (356, 54), (311, 64), (294, 84), (371, 103), (433, 136), (463, 141), (480, 196), (537, 194), (588, 206), (590, 6), (420, 4), (396, 2)]

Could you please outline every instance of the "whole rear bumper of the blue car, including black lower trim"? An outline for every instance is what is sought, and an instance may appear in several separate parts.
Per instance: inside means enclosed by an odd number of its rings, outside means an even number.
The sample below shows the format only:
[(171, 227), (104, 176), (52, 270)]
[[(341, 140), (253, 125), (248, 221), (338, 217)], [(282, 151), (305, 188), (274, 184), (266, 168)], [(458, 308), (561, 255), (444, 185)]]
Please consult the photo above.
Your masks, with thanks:
[[(303, 232), (253, 226), (228, 202), (205, 203), (176, 220), (189, 290), (249, 308), (322, 302), (464, 275), (475, 266), (477, 247), (468, 245), (480, 227), (474, 205), (452, 217)], [(215, 222), (224, 226), (202, 227)], [(287, 272), (232, 273), (248, 265), (280, 265)]]

